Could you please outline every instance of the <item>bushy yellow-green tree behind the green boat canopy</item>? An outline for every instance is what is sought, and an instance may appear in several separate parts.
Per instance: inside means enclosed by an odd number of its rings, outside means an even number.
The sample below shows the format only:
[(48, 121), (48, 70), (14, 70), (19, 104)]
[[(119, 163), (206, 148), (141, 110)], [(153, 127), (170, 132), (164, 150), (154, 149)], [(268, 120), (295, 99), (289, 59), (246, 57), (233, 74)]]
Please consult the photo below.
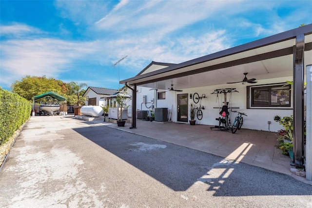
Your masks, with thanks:
[(64, 83), (54, 78), (46, 78), (45, 76), (36, 77), (29, 76), (22, 78), (21, 81), (15, 81), (11, 84), (12, 92), (20, 95), (21, 97), (32, 101), (33, 97), (45, 92), (53, 91), (60, 94), (63, 90)]

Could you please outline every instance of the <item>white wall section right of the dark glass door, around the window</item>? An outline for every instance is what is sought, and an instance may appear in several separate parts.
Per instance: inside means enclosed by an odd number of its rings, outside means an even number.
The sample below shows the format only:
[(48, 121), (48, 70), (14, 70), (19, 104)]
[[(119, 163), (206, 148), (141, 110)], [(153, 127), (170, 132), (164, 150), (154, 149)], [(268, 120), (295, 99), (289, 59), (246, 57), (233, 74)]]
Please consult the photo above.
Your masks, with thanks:
[[(257, 80), (259, 84), (267, 84), (267, 83), (282, 83), (285, 81), (291, 81), (290, 78), (278, 78), (278, 79), (269, 79), (269, 80)], [(200, 121), (196, 121), (196, 124), (203, 125), (218, 125), (218, 122), (215, 118), (219, 117), (219, 109), (214, 107), (222, 107), (224, 102), (224, 94), (218, 94), (218, 99), (216, 94), (211, 94), (215, 89), (220, 88), (236, 88), (238, 92), (233, 92), (232, 97), (230, 93), (227, 93), (227, 101), (231, 102), (229, 107), (239, 107), (237, 110), (240, 112), (245, 112), (248, 116), (244, 117), (244, 125), (243, 128), (248, 129), (256, 129), (256, 130), (269, 130), (268, 121), (271, 121), (270, 130), (278, 131), (282, 128), (278, 123), (273, 121), (273, 117), (275, 115), (279, 115), (281, 117), (289, 116), (292, 114), (292, 109), (247, 109), (247, 88), (248, 85), (255, 85), (249, 83), (235, 83), (235, 84), (222, 84), (222, 85), (212, 85), (206, 87), (196, 87), (190, 89), (183, 89), (183, 93), (192, 93), (197, 92), (199, 96), (202, 94), (206, 94), (206, 98), (202, 99), (201, 105), (205, 107), (203, 111), (203, 119)], [(219, 101), (218, 101), (219, 100)], [(193, 99), (189, 99), (189, 104), (193, 102)], [(198, 103), (199, 104), (199, 103)], [(197, 104), (197, 105), (198, 105)], [(236, 113), (230, 112), (231, 121), (234, 121)]]

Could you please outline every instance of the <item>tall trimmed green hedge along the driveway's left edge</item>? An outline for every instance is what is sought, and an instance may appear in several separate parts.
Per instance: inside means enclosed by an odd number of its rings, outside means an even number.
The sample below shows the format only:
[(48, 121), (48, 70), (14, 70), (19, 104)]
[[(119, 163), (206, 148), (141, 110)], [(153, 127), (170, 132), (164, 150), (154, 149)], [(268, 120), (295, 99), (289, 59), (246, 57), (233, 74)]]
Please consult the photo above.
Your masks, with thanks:
[(32, 103), (0, 88), (0, 145), (30, 117)]

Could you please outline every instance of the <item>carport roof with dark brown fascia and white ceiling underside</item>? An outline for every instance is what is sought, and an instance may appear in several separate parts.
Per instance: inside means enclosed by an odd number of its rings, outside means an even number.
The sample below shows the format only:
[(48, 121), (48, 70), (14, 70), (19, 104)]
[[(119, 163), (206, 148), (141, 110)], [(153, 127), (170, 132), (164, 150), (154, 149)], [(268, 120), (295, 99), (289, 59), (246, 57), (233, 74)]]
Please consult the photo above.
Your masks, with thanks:
[[(312, 64), (312, 24), (254, 42), (122, 80), (119, 83), (175, 89), (238, 82), (248, 77), (269, 79), (292, 76), (296, 36), (305, 36), (305, 65)], [(157, 63), (155, 63), (157, 64)]]

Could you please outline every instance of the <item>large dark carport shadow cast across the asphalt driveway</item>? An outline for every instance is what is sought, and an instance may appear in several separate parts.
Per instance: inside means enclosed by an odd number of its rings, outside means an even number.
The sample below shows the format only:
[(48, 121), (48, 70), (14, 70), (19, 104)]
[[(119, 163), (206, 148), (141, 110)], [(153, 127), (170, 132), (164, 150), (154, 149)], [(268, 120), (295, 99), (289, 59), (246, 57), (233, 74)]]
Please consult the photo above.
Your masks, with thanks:
[(290, 176), (184, 146), (102, 125), (73, 130), (175, 191), (204, 183), (214, 196), (312, 194)]

